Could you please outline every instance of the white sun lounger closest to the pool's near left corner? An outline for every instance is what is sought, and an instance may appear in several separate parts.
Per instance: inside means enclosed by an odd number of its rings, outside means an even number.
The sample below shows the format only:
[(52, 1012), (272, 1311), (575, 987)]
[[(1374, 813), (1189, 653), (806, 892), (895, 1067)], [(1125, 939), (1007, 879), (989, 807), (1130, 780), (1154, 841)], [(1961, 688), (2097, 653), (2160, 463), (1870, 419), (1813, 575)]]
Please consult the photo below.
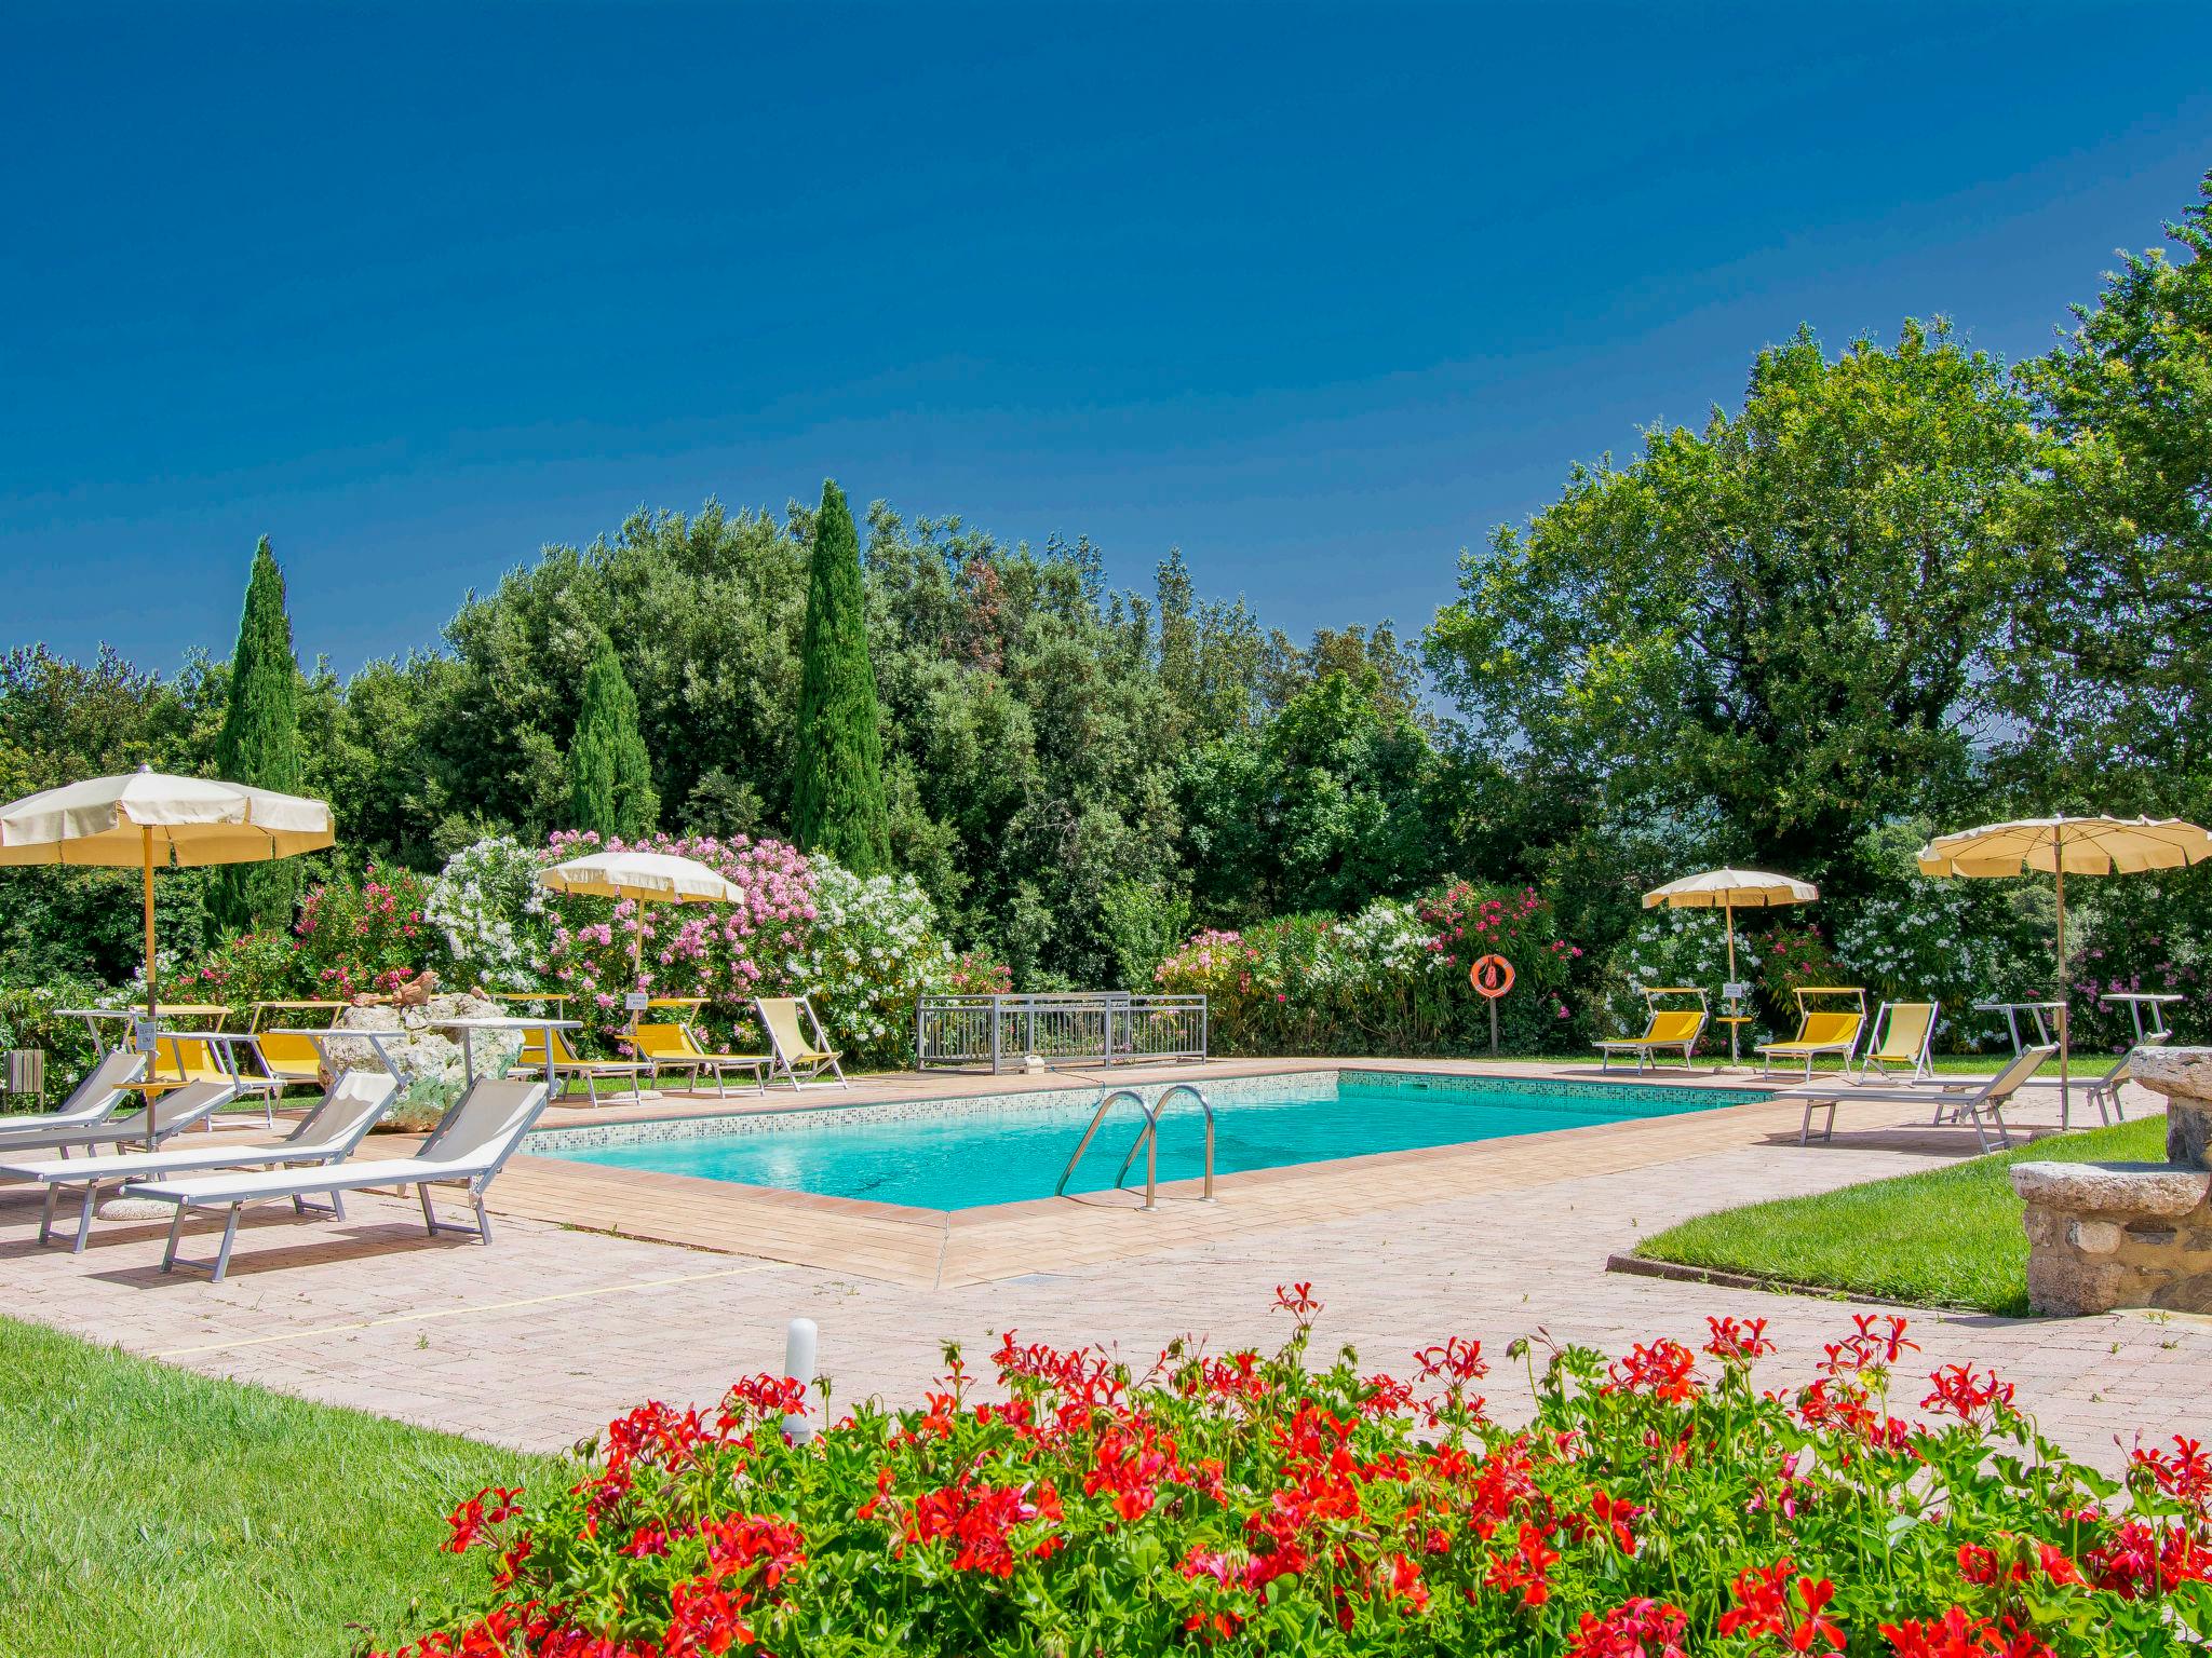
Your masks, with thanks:
[[(268, 1174), (223, 1174), (192, 1180), (133, 1180), (124, 1196), (153, 1198), (177, 1205), (177, 1218), (168, 1227), (168, 1251), (161, 1256), (161, 1271), (184, 1267), (206, 1267), (215, 1282), (230, 1269), (230, 1245), (239, 1236), (239, 1214), (248, 1203), (290, 1203), (299, 1214), (327, 1214), (345, 1218), (345, 1194), (365, 1187), (414, 1187), (422, 1203), (422, 1225), (436, 1238), (440, 1231), (462, 1231), (491, 1242), (491, 1216), (484, 1214), (484, 1187), (513, 1156), (538, 1112), (546, 1108), (544, 1081), (509, 1081), (478, 1077), (469, 1092), (445, 1114), (445, 1121), (422, 1141), (414, 1156), (358, 1158), (334, 1163), (321, 1169), (274, 1169)], [(476, 1207), (476, 1225), (462, 1220), (440, 1220), (429, 1205), (434, 1185), (467, 1187)], [(310, 1198), (330, 1198), (327, 1205)], [(192, 1211), (228, 1211), (223, 1218), (223, 1245), (212, 1262), (181, 1260), (177, 1240), (184, 1236), (184, 1220)]]

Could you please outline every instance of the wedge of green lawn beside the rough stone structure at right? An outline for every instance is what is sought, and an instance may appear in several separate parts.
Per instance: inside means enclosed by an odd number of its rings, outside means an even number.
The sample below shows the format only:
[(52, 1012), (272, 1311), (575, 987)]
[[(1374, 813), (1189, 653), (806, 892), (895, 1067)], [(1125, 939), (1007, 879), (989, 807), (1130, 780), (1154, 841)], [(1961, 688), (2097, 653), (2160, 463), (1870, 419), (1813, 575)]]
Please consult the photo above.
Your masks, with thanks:
[(1918, 1307), (2028, 1311), (2028, 1240), (2004, 1169), (2020, 1161), (2166, 1156), (2166, 1119), (2059, 1134), (1922, 1174), (1776, 1198), (1683, 1220), (1635, 1253)]

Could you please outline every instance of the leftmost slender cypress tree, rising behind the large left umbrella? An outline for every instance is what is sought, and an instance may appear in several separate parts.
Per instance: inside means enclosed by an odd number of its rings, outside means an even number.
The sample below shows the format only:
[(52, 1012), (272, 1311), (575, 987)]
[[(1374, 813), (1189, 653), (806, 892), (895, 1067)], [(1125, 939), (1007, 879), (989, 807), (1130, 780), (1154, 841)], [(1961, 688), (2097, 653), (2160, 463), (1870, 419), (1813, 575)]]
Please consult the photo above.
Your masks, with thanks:
[[(246, 579), (239, 646), (230, 652), (230, 701), (215, 734), (215, 772), (228, 783), (299, 791), (299, 661), (283, 608), (283, 570), (270, 537)], [(290, 926), (299, 862), (226, 864), (215, 871), (208, 913), (221, 928)]]

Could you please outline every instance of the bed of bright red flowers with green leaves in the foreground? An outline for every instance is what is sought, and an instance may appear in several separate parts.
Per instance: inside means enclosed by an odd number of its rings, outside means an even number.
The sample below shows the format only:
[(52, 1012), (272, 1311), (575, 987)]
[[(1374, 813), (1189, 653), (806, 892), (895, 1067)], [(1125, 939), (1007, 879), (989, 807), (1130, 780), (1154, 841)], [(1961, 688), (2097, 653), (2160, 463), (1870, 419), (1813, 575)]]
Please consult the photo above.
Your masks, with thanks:
[(398, 1651), (2095, 1658), (2212, 1629), (2212, 1457), (2106, 1479), (1997, 1377), (1913, 1379), (1905, 1320), (1778, 1391), (1763, 1320), (1610, 1364), (1515, 1342), (1511, 1428), (1480, 1342), (1314, 1371), (1318, 1302), (1279, 1304), (1274, 1357), (1179, 1342), (1144, 1375), (1006, 1333), (980, 1388), (947, 1349), (918, 1408), (810, 1444), (799, 1379), (639, 1406), (566, 1490), (453, 1510), (491, 1589)]

